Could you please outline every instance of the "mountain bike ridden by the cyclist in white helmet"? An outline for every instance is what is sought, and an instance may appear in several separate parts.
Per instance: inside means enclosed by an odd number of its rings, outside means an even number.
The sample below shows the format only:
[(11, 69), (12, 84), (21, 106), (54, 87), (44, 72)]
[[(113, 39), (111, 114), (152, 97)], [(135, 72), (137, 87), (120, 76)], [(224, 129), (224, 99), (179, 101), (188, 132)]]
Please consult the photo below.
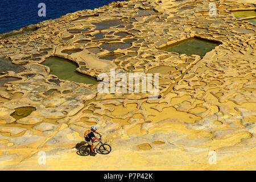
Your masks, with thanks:
[[(101, 137), (100, 137), (101, 139)], [(100, 140), (94, 141), (93, 143), (98, 142), (98, 144), (93, 148), (93, 150), (99, 152), (100, 154), (106, 155), (111, 152), (111, 147), (109, 144), (102, 143)], [(101, 144), (101, 145), (100, 145)], [(98, 147), (100, 145), (100, 147)], [(90, 154), (90, 145), (82, 145), (79, 148), (79, 154), (82, 156), (86, 156)]]

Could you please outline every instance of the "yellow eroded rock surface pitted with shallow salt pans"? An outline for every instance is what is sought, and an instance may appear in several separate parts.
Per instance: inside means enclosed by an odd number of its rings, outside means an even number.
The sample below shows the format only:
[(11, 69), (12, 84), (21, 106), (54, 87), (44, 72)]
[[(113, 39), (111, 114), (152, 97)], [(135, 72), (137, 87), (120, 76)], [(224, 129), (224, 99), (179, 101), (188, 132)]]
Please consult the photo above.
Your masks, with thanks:
[[(256, 27), (232, 14), (255, 2), (215, 3), (217, 16), (203, 0), (113, 2), (0, 39), (0, 168), (255, 170)], [(220, 45), (202, 57), (161, 50), (194, 37)], [(42, 65), (51, 56), (95, 78), (110, 69), (159, 73), (160, 97), (100, 94), (97, 84), (61, 80)], [(28, 106), (36, 110), (11, 117)], [(76, 154), (92, 125), (112, 146), (108, 156)], [(39, 151), (47, 165), (38, 165)]]

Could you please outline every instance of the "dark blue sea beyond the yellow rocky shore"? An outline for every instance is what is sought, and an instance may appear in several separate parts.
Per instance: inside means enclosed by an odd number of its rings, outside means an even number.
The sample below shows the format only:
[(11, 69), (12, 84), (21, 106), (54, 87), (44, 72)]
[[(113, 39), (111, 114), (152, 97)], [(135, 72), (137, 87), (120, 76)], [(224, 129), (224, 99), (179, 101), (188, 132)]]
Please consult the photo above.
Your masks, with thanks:
[[(108, 5), (113, 1), (118, 0), (0, 0), (0, 34), (67, 13)], [(46, 17), (38, 16), (39, 3), (46, 5)]]

